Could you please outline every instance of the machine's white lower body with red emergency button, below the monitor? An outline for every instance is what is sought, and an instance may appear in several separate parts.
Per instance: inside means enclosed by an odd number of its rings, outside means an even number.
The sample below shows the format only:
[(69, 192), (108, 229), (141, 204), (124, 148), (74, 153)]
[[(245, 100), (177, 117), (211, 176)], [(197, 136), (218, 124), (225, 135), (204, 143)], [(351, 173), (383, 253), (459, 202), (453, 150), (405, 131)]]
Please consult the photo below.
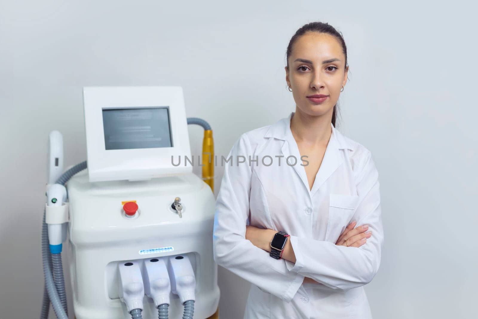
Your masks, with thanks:
[[(216, 312), (219, 287), (212, 243), (215, 198), (199, 176), (90, 183), (83, 171), (70, 179), (67, 189), (68, 254), (76, 319), (130, 318), (119, 297), (118, 263), (180, 254), (188, 255), (196, 277), (194, 318), (204, 319)], [(178, 196), (185, 207), (182, 218), (171, 208)], [(138, 218), (125, 216), (121, 202), (126, 200), (136, 200)], [(165, 247), (173, 250), (157, 250)], [(140, 268), (144, 271), (143, 264)], [(169, 318), (182, 318), (184, 306), (179, 297), (171, 293), (170, 300)], [(157, 318), (154, 301), (144, 296), (143, 304), (143, 318)]]

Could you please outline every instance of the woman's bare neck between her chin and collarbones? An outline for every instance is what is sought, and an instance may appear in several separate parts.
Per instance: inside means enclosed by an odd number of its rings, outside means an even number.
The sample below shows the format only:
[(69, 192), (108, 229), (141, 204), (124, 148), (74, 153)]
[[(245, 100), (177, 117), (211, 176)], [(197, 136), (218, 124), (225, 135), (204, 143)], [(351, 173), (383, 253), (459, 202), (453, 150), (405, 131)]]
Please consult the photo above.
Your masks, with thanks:
[(309, 145), (326, 145), (332, 134), (332, 114), (312, 116), (299, 108), (291, 119), (291, 132), (297, 142)]

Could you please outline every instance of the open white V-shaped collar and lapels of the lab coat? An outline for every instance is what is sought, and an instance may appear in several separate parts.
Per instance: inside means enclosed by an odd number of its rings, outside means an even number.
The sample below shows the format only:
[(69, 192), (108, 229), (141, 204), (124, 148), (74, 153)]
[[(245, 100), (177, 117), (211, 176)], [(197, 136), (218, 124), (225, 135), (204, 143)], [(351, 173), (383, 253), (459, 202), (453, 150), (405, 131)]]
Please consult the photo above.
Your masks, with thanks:
[(305, 168), (301, 165), (302, 161), (299, 148), (290, 128), (293, 114), (294, 112), (291, 112), (287, 118), (272, 124), (264, 137), (273, 137), (279, 140), (287, 141), (287, 143), (282, 144), (282, 154), (285, 158), (291, 155), (295, 156), (297, 163), (296, 165), (292, 165), (293, 169), (302, 180), (304, 187), (307, 189), (307, 192), (312, 199), (315, 192), (326, 182), (326, 180), (337, 170), (337, 168), (342, 165), (343, 157), (340, 156), (339, 149), (353, 148), (350, 143), (346, 141), (345, 137), (339, 131), (337, 131), (334, 125), (330, 123), (332, 126), (332, 134), (327, 144), (320, 168), (315, 175), (314, 184), (312, 189), (310, 189), (307, 175), (305, 174)]

